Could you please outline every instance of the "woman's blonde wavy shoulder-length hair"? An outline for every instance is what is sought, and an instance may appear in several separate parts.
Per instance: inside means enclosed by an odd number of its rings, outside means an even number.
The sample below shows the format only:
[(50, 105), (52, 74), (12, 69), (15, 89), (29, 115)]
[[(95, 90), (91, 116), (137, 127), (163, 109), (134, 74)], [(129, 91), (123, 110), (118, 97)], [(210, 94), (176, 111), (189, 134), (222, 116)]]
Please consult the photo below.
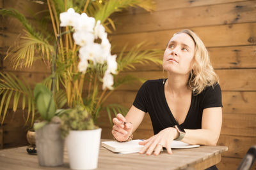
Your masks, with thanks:
[(198, 95), (205, 89), (205, 87), (214, 87), (216, 83), (219, 83), (219, 78), (214, 72), (208, 51), (205, 48), (203, 41), (195, 34), (195, 32), (189, 29), (184, 29), (175, 34), (180, 33), (188, 34), (195, 42), (195, 62), (191, 69), (188, 86), (193, 90), (194, 95)]

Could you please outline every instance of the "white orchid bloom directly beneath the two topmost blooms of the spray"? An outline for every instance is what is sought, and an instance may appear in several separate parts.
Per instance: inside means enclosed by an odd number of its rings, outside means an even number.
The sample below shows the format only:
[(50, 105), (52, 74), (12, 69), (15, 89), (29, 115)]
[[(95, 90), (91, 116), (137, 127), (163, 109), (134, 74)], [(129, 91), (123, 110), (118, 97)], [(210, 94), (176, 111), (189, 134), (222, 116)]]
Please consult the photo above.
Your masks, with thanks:
[(86, 31), (74, 32), (73, 38), (76, 41), (76, 44), (80, 45), (80, 46), (90, 45), (94, 41), (93, 34), (90, 32), (86, 32)]

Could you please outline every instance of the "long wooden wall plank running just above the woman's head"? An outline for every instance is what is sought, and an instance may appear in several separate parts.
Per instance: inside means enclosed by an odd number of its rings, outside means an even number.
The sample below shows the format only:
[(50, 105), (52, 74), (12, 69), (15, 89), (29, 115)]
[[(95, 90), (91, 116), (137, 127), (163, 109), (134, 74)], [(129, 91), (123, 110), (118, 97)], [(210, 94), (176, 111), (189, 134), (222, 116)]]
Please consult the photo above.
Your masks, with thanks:
[(253, 22), (256, 17), (255, 1), (216, 4), (182, 8), (154, 13), (120, 15), (116, 34), (149, 32), (184, 27), (197, 27), (222, 24)]

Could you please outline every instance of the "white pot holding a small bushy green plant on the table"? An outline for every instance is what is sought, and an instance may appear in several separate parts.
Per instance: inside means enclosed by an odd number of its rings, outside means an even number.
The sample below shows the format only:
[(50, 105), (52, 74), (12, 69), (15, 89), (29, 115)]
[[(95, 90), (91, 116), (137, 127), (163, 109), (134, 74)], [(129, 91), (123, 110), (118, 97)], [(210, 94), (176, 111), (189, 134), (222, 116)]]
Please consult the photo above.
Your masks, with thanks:
[(65, 110), (61, 115), (61, 134), (66, 138), (71, 169), (95, 169), (98, 164), (101, 129), (94, 125), (86, 108)]

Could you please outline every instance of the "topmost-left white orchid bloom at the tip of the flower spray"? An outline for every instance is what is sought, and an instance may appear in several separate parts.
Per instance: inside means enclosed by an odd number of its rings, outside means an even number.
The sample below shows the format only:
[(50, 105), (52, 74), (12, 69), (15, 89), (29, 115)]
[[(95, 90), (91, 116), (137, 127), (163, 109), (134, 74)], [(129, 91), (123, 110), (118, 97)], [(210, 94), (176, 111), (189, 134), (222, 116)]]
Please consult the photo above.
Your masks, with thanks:
[(60, 26), (73, 26), (76, 27), (79, 23), (80, 14), (76, 13), (73, 8), (69, 8), (67, 12), (60, 13)]

